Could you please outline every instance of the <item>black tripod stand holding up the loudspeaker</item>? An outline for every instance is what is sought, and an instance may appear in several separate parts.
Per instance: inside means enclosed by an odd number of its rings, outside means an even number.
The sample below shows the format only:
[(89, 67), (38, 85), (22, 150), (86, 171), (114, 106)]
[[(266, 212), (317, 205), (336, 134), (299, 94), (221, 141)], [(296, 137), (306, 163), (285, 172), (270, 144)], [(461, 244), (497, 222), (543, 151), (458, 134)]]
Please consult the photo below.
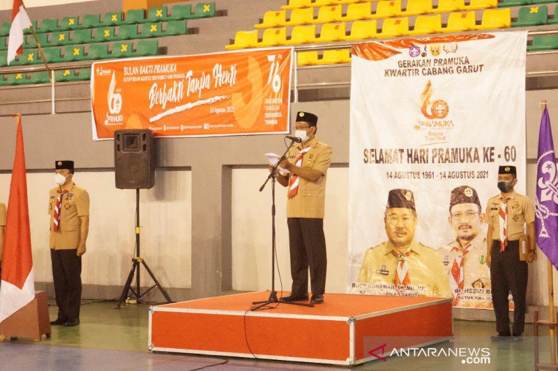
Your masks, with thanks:
[[(149, 273), (149, 276), (151, 276), (151, 279), (153, 279), (153, 282), (155, 283), (155, 285), (151, 286), (143, 294), (141, 292), (142, 289), (140, 287), (140, 264), (144, 266), (145, 270), (147, 271), (147, 273)], [(135, 273), (135, 290), (133, 289), (133, 287), (131, 287), (134, 273)], [(160, 285), (159, 281), (157, 281), (157, 278), (155, 277), (151, 269), (149, 269), (149, 267), (147, 266), (145, 260), (143, 260), (140, 256), (140, 189), (136, 189), (135, 190), (135, 257), (133, 258), (132, 269), (130, 269), (130, 274), (128, 274), (128, 279), (126, 280), (126, 284), (124, 285), (122, 294), (120, 296), (120, 300), (118, 302), (118, 306), (116, 306), (116, 308), (126, 308), (126, 306), (122, 306), (122, 302), (126, 300), (126, 297), (128, 296), (128, 292), (131, 291), (135, 296), (136, 302), (140, 303), (142, 302), (141, 301), (142, 297), (155, 287), (157, 287), (161, 292), (161, 294), (163, 294), (163, 297), (165, 297), (167, 303), (172, 303), (169, 294), (167, 294), (163, 286)]]

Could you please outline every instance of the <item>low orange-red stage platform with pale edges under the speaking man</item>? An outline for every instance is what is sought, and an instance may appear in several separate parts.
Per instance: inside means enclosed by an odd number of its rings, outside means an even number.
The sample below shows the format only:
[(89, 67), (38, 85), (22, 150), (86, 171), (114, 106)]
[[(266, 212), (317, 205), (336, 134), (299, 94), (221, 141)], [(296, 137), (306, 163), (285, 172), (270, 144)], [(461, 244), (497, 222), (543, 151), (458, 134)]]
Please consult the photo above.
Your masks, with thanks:
[[(277, 308), (255, 312), (250, 311), (252, 301), (268, 299), (269, 292), (154, 306), (149, 311), (149, 349), (356, 365), (376, 359), (368, 354), (372, 349), (365, 349), (365, 337), (400, 336), (396, 348), (451, 338), (451, 299), (324, 297), (325, 302), (314, 308), (280, 303)], [(411, 337), (428, 338), (428, 344), (405, 340)], [(386, 353), (393, 348), (386, 347)]]

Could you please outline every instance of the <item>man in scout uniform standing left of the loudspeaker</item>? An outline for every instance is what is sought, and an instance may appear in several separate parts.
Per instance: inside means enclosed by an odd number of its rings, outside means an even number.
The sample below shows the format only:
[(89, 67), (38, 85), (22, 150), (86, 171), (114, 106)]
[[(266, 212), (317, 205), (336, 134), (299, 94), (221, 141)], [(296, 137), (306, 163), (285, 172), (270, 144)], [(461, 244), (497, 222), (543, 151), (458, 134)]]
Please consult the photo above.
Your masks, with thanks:
[(50, 190), (50, 258), (58, 317), (51, 324), (80, 324), (82, 255), (89, 232), (89, 194), (73, 182), (74, 162), (56, 161)]

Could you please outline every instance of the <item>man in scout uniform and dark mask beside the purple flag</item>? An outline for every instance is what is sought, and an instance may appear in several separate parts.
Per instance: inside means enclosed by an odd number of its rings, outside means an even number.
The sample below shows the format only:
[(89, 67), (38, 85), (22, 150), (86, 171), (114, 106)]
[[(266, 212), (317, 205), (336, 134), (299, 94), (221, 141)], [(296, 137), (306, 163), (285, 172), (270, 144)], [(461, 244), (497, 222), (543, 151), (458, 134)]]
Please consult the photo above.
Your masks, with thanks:
[[(498, 189), (500, 194), (490, 198), (486, 206), (488, 223), (487, 262), (492, 280), (492, 305), (496, 316), (498, 336), (492, 340), (521, 340), (525, 327), (525, 294), (527, 293), (527, 262), (532, 262), (536, 253), (535, 210), (527, 196), (515, 193), (517, 184), (515, 166), (500, 166)], [(525, 237), (525, 223), (529, 237)], [(520, 251), (525, 249), (526, 261), (520, 260)], [(511, 291), (515, 309), (510, 333), (508, 292)]]

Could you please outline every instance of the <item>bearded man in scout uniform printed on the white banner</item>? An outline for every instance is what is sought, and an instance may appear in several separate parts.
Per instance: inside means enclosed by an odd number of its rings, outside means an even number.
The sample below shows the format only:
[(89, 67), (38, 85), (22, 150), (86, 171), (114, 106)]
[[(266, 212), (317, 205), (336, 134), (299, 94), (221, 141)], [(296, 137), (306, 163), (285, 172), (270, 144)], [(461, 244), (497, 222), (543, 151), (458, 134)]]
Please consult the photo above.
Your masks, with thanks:
[[(473, 187), (462, 185), (451, 191), (448, 221), (455, 232), (455, 240), (439, 248), (438, 253), (442, 255), (448, 274), (453, 306), (492, 307), (490, 297), (484, 294), (484, 290), (490, 289), (490, 268), (486, 265), (486, 237), (481, 233), (482, 211)], [(480, 292), (477, 289), (481, 289)], [(464, 295), (488, 299), (463, 299)]]

